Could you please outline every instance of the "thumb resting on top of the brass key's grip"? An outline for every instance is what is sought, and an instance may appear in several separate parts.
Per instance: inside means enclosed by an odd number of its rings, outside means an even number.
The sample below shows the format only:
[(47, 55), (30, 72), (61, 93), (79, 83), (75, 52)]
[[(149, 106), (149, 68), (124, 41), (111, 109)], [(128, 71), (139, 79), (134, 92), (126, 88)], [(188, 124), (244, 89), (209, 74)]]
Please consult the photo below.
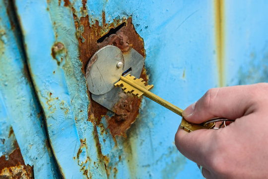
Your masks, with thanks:
[(214, 117), (235, 120), (250, 113), (255, 89), (256, 85), (209, 89), (183, 111), (183, 116), (193, 123), (202, 123)]

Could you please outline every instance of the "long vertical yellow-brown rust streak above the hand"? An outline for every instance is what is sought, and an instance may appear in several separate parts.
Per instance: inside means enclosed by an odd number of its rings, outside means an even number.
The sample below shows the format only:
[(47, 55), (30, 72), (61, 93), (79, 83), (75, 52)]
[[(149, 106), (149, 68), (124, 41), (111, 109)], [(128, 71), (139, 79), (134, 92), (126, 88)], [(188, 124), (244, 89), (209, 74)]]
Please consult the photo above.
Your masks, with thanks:
[(225, 86), (225, 41), (224, 41), (224, 0), (215, 0), (215, 39), (219, 87)]

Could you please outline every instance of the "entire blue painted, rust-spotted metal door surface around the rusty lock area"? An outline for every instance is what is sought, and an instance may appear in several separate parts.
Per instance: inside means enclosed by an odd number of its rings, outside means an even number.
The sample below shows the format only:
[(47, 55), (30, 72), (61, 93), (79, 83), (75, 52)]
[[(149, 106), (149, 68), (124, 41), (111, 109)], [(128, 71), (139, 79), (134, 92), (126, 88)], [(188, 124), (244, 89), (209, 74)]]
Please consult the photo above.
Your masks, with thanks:
[[(79, 179), (202, 178), (175, 147), (181, 118), (157, 103), (142, 100), (127, 138), (114, 140), (105, 117), (95, 126), (79, 61), (77, 37), (84, 29), (76, 32), (74, 24), (86, 15), (90, 25), (98, 20), (100, 26), (103, 13), (107, 24), (132, 16), (144, 41), (152, 92), (185, 108), (213, 87), (268, 82), (267, 5), (265, 0), (15, 0), (26, 63), (0, 1), (0, 138), (6, 139), (0, 154), (12, 152), (17, 140), (35, 178), (60, 173)], [(15, 136), (8, 138), (11, 126)], [(44, 145), (47, 138), (60, 173)]]

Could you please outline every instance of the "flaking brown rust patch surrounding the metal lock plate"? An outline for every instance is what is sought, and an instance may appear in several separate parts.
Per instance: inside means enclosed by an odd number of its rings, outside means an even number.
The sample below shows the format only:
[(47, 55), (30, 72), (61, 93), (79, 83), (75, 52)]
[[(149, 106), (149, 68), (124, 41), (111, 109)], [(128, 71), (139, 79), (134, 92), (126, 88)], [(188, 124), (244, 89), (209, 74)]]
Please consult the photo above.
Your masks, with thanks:
[[(81, 10), (83, 11), (85, 9), (86, 8), (83, 5)], [(78, 19), (74, 9), (72, 10), (83, 71), (85, 71), (85, 67), (93, 54), (106, 45), (117, 46), (122, 50), (123, 54), (128, 53), (130, 47), (132, 47), (145, 58), (143, 39), (135, 31), (134, 25), (132, 24), (132, 17), (127, 19), (117, 19), (112, 23), (106, 24), (105, 12), (103, 12), (101, 26), (97, 20), (94, 24), (90, 24), (88, 15), (84, 15)], [(123, 27), (118, 31), (106, 37), (102, 42), (97, 42), (101, 37), (107, 34), (110, 29), (122, 24), (124, 24)], [(142, 69), (141, 78), (147, 81), (146, 70), (144, 67)], [(107, 115), (108, 109), (93, 100), (91, 100), (91, 102), (96, 124), (101, 125), (101, 118), (105, 116), (110, 133), (115, 139), (116, 135), (126, 137), (126, 131), (130, 128), (131, 124), (134, 123), (138, 115), (141, 99), (138, 99), (131, 94), (125, 95), (125, 97), (115, 105), (117, 114), (112, 117)]]

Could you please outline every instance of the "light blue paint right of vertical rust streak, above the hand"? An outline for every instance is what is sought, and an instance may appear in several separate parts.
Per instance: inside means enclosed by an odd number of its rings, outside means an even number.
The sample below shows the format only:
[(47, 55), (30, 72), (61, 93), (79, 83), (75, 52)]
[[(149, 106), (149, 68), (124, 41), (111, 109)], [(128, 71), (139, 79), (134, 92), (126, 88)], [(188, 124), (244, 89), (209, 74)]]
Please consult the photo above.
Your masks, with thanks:
[(267, 5), (266, 0), (225, 2), (229, 86), (268, 82)]

